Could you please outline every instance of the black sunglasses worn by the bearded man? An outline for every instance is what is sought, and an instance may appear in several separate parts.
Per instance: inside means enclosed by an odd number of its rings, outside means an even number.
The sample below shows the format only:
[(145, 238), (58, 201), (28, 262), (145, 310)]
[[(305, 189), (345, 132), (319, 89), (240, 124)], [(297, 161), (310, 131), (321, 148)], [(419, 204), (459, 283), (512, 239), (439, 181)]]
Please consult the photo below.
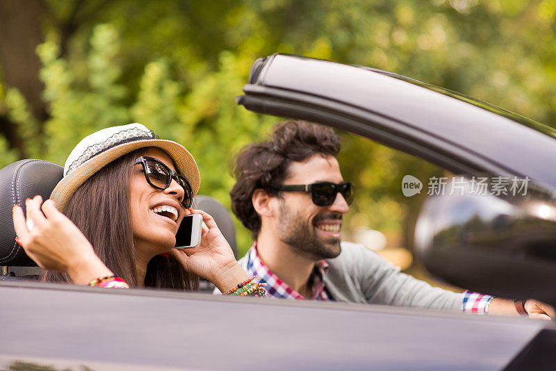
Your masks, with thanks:
[(340, 192), (348, 205), (353, 202), (353, 184), (349, 181), (330, 183), (320, 181), (312, 184), (285, 184), (278, 190), (284, 192), (311, 192), (311, 199), (316, 206), (330, 206), (334, 204), (336, 195)]

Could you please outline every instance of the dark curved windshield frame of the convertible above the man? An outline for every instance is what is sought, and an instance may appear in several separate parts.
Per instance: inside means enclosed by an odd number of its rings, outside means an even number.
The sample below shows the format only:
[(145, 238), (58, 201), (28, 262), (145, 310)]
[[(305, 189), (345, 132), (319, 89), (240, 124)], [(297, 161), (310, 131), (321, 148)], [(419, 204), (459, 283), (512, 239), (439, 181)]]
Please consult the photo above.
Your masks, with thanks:
[(529, 176), (556, 188), (556, 131), (482, 101), (389, 72), (274, 54), (238, 103), (364, 135), (456, 173)]

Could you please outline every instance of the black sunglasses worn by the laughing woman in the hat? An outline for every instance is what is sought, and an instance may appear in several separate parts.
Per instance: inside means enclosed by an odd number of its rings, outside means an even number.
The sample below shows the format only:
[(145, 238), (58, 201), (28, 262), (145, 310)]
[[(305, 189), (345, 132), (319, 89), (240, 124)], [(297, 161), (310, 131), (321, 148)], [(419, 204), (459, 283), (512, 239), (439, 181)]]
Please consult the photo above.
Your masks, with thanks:
[(170, 183), (172, 183), (172, 179), (174, 179), (174, 181), (183, 188), (183, 200), (181, 200), (181, 204), (185, 208), (191, 207), (191, 204), (193, 204), (193, 190), (191, 190), (191, 186), (187, 179), (177, 174), (177, 172), (174, 172), (174, 170), (170, 169), (165, 163), (156, 158), (140, 156), (136, 158), (135, 165), (139, 164), (143, 167), (147, 183), (157, 190), (165, 190), (170, 187)]

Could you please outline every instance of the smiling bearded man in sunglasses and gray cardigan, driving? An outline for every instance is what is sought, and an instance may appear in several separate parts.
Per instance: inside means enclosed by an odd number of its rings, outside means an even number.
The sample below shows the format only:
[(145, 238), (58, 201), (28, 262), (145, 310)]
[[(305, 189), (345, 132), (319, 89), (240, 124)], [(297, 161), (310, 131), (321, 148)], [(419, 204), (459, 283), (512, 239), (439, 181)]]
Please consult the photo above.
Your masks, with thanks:
[(353, 188), (340, 172), (339, 150), (332, 129), (286, 121), (236, 158), (231, 206), (254, 238), (240, 265), (268, 283), (269, 297), (554, 317), (533, 299), (521, 308), (521, 301), (432, 288), (362, 245), (341, 242)]

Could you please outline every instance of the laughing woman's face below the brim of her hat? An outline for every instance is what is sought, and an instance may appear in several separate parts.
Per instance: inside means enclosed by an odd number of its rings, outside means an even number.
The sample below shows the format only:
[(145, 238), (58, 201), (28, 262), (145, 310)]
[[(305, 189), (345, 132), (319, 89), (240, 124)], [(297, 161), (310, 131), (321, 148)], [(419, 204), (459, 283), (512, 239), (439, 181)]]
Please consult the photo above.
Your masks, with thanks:
[[(164, 151), (148, 148), (143, 156), (156, 158), (175, 171), (174, 163)], [(142, 165), (133, 165), (129, 184), (129, 209), (133, 242), (138, 250), (155, 256), (172, 249), (183, 216), (189, 211), (180, 202), (184, 190), (172, 179), (165, 190), (158, 190), (147, 183)]]

